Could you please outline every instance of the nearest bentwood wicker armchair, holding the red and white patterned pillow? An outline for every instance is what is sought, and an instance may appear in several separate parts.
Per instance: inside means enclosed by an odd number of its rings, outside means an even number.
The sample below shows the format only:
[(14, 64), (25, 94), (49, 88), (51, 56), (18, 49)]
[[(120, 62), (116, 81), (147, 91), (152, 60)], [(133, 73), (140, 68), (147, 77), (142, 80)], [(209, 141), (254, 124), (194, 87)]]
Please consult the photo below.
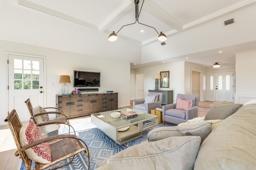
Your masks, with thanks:
[[(49, 168), (59, 162), (67, 158), (71, 158), (66, 164), (62, 164), (61, 166), (55, 166), (52, 169), (60, 168), (66, 166), (72, 162), (74, 156), (80, 152), (84, 152), (87, 159), (87, 169), (89, 170), (89, 151), (86, 146), (86, 143), (76, 137), (76, 135), (56, 135), (52, 137), (46, 137), (43, 139), (39, 139), (37, 141), (31, 142), (22, 147), (20, 143), (20, 128), (22, 127), (22, 123), (16, 113), (16, 110), (12, 110), (11, 113), (6, 117), (6, 122), (10, 127), (12, 135), (14, 137), (14, 141), (17, 146), (17, 151), (15, 152), (15, 156), (20, 156), (24, 163), (24, 166), (31, 170), (32, 160), (28, 158), (26, 152), (24, 150), (29, 149), (33, 146), (39, 145), (41, 143), (48, 142), (50, 145), (51, 153), (52, 153), (52, 161), (49, 164), (42, 164), (34, 161), (34, 169), (35, 170), (43, 170), (45, 168)], [(84, 145), (84, 146), (83, 146)]]

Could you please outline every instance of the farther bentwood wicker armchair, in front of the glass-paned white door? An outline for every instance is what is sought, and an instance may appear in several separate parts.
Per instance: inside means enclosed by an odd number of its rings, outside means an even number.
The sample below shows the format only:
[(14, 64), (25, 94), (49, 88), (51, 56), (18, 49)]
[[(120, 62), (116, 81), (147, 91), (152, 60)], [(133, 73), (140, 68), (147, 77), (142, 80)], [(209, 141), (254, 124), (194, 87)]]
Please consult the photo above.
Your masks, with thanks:
[(54, 121), (54, 122), (59, 122), (59, 123), (68, 123), (69, 124), (68, 117), (66, 117), (66, 115), (64, 115), (62, 110), (60, 110), (56, 107), (44, 107), (44, 109), (57, 109), (58, 111), (47, 111), (47, 112), (44, 112), (44, 113), (39, 113), (39, 114), (33, 115), (33, 106), (30, 102), (30, 99), (27, 99), (25, 101), (25, 103), (28, 106), (28, 110), (29, 110), (29, 113), (31, 115), (31, 119), (33, 119), (34, 123), (36, 123), (36, 124), (37, 124), (37, 122), (35, 120), (35, 117), (39, 116), (39, 115), (44, 115), (44, 114), (56, 114), (56, 115), (58, 115), (58, 117), (52, 118), (49, 121)]

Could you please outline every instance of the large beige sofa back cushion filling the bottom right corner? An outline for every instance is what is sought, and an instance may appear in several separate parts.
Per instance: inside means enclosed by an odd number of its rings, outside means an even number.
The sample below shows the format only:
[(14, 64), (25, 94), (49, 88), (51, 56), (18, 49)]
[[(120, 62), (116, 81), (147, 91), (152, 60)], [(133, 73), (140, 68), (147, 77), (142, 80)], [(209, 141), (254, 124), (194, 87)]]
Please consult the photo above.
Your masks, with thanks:
[(194, 170), (256, 169), (255, 104), (230, 115), (202, 143)]

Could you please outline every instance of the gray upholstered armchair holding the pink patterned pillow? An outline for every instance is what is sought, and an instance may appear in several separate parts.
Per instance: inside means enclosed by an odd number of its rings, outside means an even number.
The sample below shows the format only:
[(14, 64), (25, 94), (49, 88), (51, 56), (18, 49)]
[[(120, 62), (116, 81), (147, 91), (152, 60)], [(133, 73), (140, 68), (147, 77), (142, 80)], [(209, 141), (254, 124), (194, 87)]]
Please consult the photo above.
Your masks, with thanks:
[(162, 106), (163, 124), (167, 121), (178, 125), (188, 121), (189, 119), (198, 117), (199, 95), (177, 94), (176, 102), (178, 101), (178, 98), (183, 100), (192, 100), (192, 107), (186, 110), (175, 109), (175, 103)]

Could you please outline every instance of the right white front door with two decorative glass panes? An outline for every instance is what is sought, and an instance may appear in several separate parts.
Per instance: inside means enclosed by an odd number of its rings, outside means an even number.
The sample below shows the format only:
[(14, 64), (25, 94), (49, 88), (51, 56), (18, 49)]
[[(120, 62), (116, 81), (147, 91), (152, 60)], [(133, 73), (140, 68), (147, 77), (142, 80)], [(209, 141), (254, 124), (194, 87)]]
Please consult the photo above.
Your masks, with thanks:
[(215, 82), (215, 100), (233, 102), (233, 72), (217, 72)]

